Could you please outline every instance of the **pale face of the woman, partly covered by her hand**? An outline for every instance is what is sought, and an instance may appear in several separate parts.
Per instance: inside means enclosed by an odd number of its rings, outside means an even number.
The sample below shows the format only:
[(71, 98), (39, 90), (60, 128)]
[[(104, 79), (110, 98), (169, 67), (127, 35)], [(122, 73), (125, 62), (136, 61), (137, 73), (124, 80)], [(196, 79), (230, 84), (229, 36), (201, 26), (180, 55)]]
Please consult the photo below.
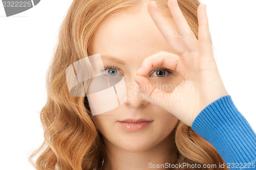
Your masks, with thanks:
[[(174, 21), (171, 18), (168, 20), (178, 32)], [(105, 144), (109, 147), (130, 152), (146, 151), (161, 142), (167, 142), (164, 139), (175, 128), (178, 118), (142, 100), (139, 97), (138, 85), (134, 81), (143, 59), (160, 51), (172, 53), (146, 7), (138, 11), (116, 13), (101, 22), (94, 33), (89, 45), (89, 55), (100, 53), (101, 56), (111, 56), (123, 61), (119, 63), (117, 60), (102, 58), (104, 67), (114, 67), (112, 72), (109, 72), (110, 68), (106, 69), (108, 76), (113, 76), (116, 72), (117, 75), (124, 76), (127, 93), (127, 100), (122, 105), (93, 116)], [(162, 89), (166, 92), (172, 91), (183, 80), (177, 72), (169, 74), (166, 70), (154, 71), (156, 68), (148, 72), (147, 78), (158, 88), (164, 87)], [(144, 129), (132, 131), (119, 123), (125, 119), (146, 119), (152, 122)]]

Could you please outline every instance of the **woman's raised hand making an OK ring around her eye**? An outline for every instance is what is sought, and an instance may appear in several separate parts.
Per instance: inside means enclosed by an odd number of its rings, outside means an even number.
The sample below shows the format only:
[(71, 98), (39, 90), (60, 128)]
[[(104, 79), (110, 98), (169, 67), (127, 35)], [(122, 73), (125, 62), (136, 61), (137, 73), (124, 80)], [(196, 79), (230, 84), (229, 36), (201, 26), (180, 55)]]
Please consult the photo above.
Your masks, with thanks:
[[(162, 107), (184, 124), (191, 126), (200, 111), (228, 93), (212, 53), (206, 5), (200, 4), (197, 10), (198, 40), (188, 26), (177, 1), (169, 0), (168, 8), (180, 35), (161, 15), (155, 2), (150, 2), (147, 9), (175, 54), (161, 51), (145, 58), (134, 80), (140, 86), (144, 100)], [(153, 89), (152, 84), (145, 76), (152, 67), (156, 66), (177, 71), (184, 78), (183, 81), (170, 93), (165, 93), (157, 88)], [(191, 87), (193, 88), (191, 89)], [(164, 96), (164, 98), (154, 96)], [(179, 99), (176, 96), (183, 97)]]

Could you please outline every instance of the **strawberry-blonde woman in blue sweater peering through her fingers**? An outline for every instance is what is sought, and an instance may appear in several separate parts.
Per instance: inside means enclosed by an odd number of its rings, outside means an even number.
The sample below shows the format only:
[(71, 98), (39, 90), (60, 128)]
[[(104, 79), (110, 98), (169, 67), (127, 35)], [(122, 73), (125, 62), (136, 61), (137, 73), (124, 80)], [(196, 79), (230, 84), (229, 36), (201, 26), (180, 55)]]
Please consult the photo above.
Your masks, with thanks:
[[(255, 168), (256, 135), (220, 78), (205, 5), (156, 3), (73, 1), (48, 71), (36, 169)], [(95, 54), (127, 88), (124, 103), (97, 115), (65, 79)]]

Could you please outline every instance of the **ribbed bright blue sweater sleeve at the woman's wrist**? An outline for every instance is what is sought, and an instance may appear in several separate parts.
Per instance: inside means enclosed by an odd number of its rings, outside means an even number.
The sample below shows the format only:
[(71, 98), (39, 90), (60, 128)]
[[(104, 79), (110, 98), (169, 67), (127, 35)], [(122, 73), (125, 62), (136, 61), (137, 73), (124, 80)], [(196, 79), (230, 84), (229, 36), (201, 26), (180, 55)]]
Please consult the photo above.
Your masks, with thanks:
[(206, 106), (191, 128), (215, 147), (230, 170), (256, 169), (256, 134), (230, 95)]

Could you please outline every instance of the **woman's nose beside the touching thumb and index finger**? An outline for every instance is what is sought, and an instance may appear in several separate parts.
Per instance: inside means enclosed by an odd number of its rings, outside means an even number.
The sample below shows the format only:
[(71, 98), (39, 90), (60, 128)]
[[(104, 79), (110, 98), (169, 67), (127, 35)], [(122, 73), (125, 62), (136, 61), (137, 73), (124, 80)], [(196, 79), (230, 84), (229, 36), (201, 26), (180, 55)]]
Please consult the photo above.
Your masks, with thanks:
[(134, 80), (127, 82), (125, 86), (127, 94), (127, 100), (124, 102), (125, 106), (138, 109), (148, 104), (147, 101), (141, 98), (139, 85)]

